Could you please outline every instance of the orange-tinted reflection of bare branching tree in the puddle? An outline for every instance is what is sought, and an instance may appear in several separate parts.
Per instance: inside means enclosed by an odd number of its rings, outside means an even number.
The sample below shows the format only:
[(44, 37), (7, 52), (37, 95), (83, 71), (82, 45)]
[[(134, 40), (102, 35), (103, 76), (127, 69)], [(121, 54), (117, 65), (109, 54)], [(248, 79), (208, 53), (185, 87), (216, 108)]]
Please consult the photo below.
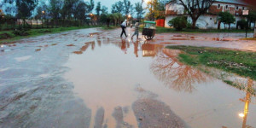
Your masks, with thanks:
[(155, 56), (150, 66), (151, 71), (160, 81), (177, 91), (192, 92), (193, 84), (206, 82), (208, 77), (201, 71), (184, 65), (177, 60), (180, 53), (177, 49), (162, 49)]

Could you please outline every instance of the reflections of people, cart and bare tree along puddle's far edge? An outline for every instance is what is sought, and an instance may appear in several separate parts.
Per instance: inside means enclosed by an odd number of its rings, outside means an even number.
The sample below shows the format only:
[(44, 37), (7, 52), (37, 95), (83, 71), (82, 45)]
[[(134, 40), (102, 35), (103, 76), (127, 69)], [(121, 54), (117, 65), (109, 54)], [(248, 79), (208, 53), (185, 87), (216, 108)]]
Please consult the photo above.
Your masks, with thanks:
[[(133, 53), (136, 57), (139, 56), (139, 51), (142, 51), (143, 57), (154, 57), (154, 61), (150, 66), (151, 71), (157, 79), (162, 81), (166, 86), (177, 91), (192, 92), (195, 90), (195, 84), (206, 82), (209, 77), (201, 71), (184, 65), (177, 60), (177, 55), (181, 51), (176, 49), (164, 49), (162, 44), (149, 44), (147, 41), (130, 41), (121, 39), (120, 42), (112, 39), (97, 40), (97, 44), (114, 44), (118, 46), (125, 54), (127, 50), (133, 45)], [(75, 54), (83, 54), (83, 52), (91, 47), (92, 50), (96, 48), (96, 42), (88, 42), (80, 48), (79, 51), (74, 51)]]

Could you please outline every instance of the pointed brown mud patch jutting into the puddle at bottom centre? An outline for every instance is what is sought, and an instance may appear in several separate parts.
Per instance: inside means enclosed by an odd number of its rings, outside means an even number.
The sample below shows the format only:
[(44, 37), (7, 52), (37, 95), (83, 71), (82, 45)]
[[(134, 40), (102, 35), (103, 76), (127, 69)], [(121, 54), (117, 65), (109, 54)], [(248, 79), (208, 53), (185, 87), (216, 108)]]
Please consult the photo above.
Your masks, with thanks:
[[(138, 127), (146, 128), (183, 128), (183, 120), (180, 119), (164, 102), (156, 99), (156, 95), (150, 91), (137, 87), (139, 99), (132, 103), (132, 109), (137, 117)], [(187, 127), (187, 126), (186, 126)]]

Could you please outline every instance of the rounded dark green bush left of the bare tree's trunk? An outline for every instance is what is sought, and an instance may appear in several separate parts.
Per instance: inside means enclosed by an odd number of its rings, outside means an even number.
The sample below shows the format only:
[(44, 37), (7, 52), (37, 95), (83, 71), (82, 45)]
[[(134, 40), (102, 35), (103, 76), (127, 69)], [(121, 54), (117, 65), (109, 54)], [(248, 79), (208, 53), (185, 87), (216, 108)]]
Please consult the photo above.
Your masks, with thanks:
[(183, 28), (186, 28), (187, 23), (187, 18), (184, 16), (178, 16), (168, 22), (169, 26), (173, 26), (177, 31), (181, 31)]

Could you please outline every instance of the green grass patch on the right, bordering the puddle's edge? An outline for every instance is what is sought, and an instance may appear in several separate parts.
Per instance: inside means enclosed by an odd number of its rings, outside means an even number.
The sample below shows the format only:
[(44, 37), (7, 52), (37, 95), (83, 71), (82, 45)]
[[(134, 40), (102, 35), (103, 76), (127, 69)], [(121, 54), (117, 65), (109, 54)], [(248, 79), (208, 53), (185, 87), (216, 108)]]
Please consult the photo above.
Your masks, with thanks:
[(167, 46), (167, 48), (184, 51), (178, 59), (188, 65), (216, 67), (256, 80), (256, 52), (192, 46)]

